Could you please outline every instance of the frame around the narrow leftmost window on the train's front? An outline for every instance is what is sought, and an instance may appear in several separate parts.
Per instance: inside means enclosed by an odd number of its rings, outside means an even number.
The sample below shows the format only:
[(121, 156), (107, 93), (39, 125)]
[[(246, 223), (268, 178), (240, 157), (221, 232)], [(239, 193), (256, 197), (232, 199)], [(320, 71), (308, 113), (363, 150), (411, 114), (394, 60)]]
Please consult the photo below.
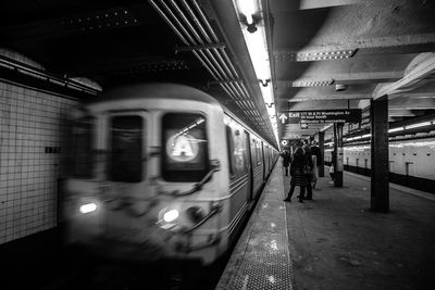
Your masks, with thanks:
[[(76, 124), (78, 124), (78, 123), (84, 123), (84, 121), (88, 121), (88, 122), (86, 122), (86, 123), (88, 123), (88, 124), (90, 124), (89, 125), (89, 128), (88, 128), (88, 130), (87, 130), (87, 133), (88, 133), (88, 138), (89, 138), (89, 140), (87, 141), (88, 142), (88, 152), (87, 152), (87, 155), (88, 155), (88, 161), (87, 161), (87, 165), (85, 165), (86, 166), (86, 172), (84, 172), (83, 169), (77, 169), (76, 168), (76, 166), (77, 166), (77, 160), (78, 160), (78, 157), (77, 157), (77, 154), (76, 154), (76, 149), (77, 149), (77, 146), (76, 146), (76, 137), (75, 137), (75, 134), (74, 134), (74, 129), (76, 128)], [(80, 118), (76, 118), (76, 119), (73, 119), (72, 121), (72, 129), (71, 129), (71, 131), (70, 131), (70, 134), (71, 134), (71, 142), (72, 142), (72, 150), (71, 150), (71, 152), (70, 152), (70, 157), (71, 157), (71, 163), (72, 163), (72, 168), (71, 168), (71, 171), (70, 171), (70, 175), (72, 176), (72, 177), (74, 177), (74, 178), (80, 178), (80, 179), (92, 179), (94, 178), (94, 176), (95, 176), (95, 173), (94, 173), (94, 153), (92, 153), (92, 148), (94, 148), (94, 142), (95, 142), (95, 140), (96, 140), (96, 123), (97, 123), (97, 118), (95, 117), (95, 116), (91, 116), (91, 115), (86, 115), (86, 116), (84, 116), (84, 117), (80, 117)], [(78, 171), (78, 172), (76, 172), (76, 171)]]

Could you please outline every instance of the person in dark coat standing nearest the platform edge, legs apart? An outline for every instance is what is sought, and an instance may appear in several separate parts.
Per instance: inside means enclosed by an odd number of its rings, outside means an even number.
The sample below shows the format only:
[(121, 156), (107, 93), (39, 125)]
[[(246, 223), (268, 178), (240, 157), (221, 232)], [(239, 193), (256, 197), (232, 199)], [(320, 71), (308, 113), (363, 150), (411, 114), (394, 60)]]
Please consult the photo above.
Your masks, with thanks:
[(291, 201), (293, 192), (295, 191), (296, 186), (300, 187), (299, 193), (299, 202), (303, 202), (303, 197), (306, 194), (307, 187), (307, 178), (303, 175), (303, 168), (307, 166), (308, 161), (307, 156), (303, 154), (302, 148), (296, 148), (294, 152), (293, 160), (290, 162), (290, 191), (288, 192), (287, 198), (284, 201)]

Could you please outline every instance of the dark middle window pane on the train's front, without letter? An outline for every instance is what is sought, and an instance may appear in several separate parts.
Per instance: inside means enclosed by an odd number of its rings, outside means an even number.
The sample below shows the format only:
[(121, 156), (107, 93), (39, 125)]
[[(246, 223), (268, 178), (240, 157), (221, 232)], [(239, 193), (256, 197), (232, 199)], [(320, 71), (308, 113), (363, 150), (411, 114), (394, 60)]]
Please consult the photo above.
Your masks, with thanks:
[(140, 116), (115, 116), (111, 119), (110, 179), (139, 182), (142, 180), (142, 130)]

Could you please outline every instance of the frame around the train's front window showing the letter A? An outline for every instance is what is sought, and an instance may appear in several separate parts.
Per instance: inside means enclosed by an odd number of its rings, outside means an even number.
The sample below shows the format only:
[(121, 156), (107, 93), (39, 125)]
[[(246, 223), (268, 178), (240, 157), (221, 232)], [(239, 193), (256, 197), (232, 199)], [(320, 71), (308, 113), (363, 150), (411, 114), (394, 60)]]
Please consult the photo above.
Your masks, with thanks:
[[(202, 165), (202, 169), (196, 171), (188, 171), (188, 169), (167, 169), (167, 154), (166, 154), (166, 137), (165, 133), (165, 117), (169, 115), (196, 115), (196, 118), (202, 117), (203, 118), (203, 140), (206, 140), (206, 146), (202, 147), (202, 161), (200, 162)], [(160, 128), (161, 128), (161, 159), (160, 159), (160, 173), (163, 180), (167, 182), (198, 182), (200, 181), (210, 171), (210, 138), (209, 138), (209, 119), (206, 113), (201, 111), (165, 111), (160, 116)], [(200, 150), (200, 149), (198, 149)], [(174, 163), (174, 162), (173, 162)], [(179, 163), (178, 165), (182, 165)]]

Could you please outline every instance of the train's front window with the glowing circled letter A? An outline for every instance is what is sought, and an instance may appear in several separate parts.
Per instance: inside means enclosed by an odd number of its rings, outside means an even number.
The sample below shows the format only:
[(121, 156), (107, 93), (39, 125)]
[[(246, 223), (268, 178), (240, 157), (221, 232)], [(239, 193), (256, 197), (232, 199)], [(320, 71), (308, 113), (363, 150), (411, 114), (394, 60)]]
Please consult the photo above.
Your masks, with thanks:
[(162, 119), (162, 176), (167, 181), (199, 181), (209, 171), (206, 118), (169, 113)]

